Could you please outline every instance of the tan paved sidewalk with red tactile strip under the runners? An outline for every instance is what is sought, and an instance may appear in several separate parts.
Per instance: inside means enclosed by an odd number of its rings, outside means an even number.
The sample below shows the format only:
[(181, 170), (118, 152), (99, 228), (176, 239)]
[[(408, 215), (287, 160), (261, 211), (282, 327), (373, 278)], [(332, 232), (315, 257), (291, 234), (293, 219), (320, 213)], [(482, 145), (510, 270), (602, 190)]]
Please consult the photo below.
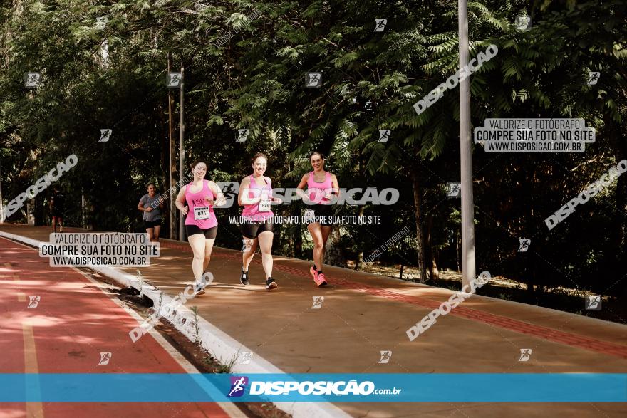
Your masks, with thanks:
[[(0, 231), (48, 241), (47, 227), (5, 224)], [(48, 259), (44, 262), (47, 264)], [(309, 275), (310, 263), (278, 256), (274, 257), (273, 277), (279, 288), (266, 291), (259, 255), (250, 268), (251, 285), (239, 283), (240, 266), (239, 251), (214, 248), (209, 271), (215, 280), (204, 296), (192, 299), (186, 306), (199, 308), (211, 335), (220, 337), (210, 328), (213, 326), (252, 350), (257, 362), (251, 367), (267, 368), (269, 363), (283, 372), (294, 373), (627, 372), (624, 325), (472, 296), (449, 315), (438, 318), (424, 335), (409, 341), (405, 331), (445, 301), (452, 291), (329, 266), (324, 271), (330, 286), (317, 288)], [(135, 268), (120, 270), (136, 276)], [(141, 271), (145, 281), (168, 296), (175, 296), (185, 288), (182, 283), (191, 278), (189, 246), (162, 240), (161, 256), (152, 258), (151, 266)], [(324, 297), (321, 308), (311, 309), (318, 296)], [(128, 330), (132, 326), (129, 324)], [(132, 344), (130, 340), (128, 344)], [(520, 350), (524, 348), (531, 348), (532, 355), (529, 361), (519, 362)], [(222, 345), (212, 349), (228, 352)], [(379, 363), (383, 350), (392, 351), (386, 364)], [(246, 365), (237, 365), (234, 370), (253, 371)], [(334, 405), (353, 417), (627, 414), (624, 403)]]

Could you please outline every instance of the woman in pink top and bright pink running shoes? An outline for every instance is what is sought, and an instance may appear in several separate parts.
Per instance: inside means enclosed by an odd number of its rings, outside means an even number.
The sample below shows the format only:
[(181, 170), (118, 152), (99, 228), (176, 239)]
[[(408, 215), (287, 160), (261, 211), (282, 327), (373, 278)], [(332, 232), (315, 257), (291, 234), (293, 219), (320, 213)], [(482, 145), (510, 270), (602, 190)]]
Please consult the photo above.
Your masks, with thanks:
[[(312, 152), (309, 161), (314, 171), (303, 176), (296, 193), (307, 205), (305, 219), (313, 218), (313, 222), (307, 226), (311, 239), (314, 240), (314, 266), (309, 268), (309, 273), (314, 276), (316, 285), (321, 287), (327, 284), (322, 267), (324, 247), (331, 234), (331, 221), (327, 217), (333, 215), (333, 210), (329, 201), (333, 194), (339, 196), (340, 187), (335, 174), (324, 171), (324, 157), (320, 152)], [(307, 186), (307, 193), (303, 192), (305, 186)]]

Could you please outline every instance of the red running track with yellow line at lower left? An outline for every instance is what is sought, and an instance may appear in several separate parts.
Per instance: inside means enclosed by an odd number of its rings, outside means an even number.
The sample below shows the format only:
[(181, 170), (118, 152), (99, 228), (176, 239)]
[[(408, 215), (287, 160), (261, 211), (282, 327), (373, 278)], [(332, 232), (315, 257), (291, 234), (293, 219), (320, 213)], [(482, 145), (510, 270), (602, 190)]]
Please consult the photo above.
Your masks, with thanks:
[[(28, 308), (29, 296), (40, 297), (36, 307)], [(132, 343), (128, 330), (136, 325), (130, 313), (83, 274), (51, 267), (33, 249), (0, 238), (1, 373), (186, 372), (152, 336)], [(101, 352), (111, 353), (107, 365), (98, 364)], [(210, 402), (0, 403), (1, 418), (141, 416), (229, 414)]]

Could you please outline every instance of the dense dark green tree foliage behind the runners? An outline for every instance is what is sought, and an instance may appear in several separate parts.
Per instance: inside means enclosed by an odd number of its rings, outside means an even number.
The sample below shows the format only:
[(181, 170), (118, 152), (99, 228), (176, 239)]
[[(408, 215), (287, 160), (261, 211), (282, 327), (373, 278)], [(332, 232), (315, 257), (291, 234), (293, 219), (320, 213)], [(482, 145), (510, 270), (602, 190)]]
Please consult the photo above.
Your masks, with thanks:
[[(618, 292), (626, 283), (627, 177), (555, 229), (544, 219), (627, 158), (626, 4), (468, 6), (471, 56), (499, 48), (471, 78), (474, 127), (487, 117), (581, 117), (597, 132), (584, 154), (474, 146), (478, 268), (540, 286)], [(531, 17), (529, 31), (512, 25), (519, 14)], [(374, 31), (375, 19), (387, 19), (383, 31)], [(170, 53), (172, 69), (185, 68), (187, 162), (205, 158), (210, 177), (240, 181), (262, 151), (274, 187), (295, 187), (311, 169), (309, 152), (321, 150), (341, 187), (400, 190), (393, 206), (336, 208), (382, 219), (338, 229), (331, 246), (342, 258), (366, 257), (410, 226), (381, 261), (420, 261), (431, 277), (438, 266), (459, 266), (459, 200), (445, 192), (459, 180), (458, 90), (420, 115), (412, 108), (457, 70), (457, 2), (14, 0), (1, 7), (0, 25), (5, 202), (75, 153), (78, 166), (60, 180), (71, 221), (81, 222), (84, 194), (95, 228), (138, 229), (145, 184), (168, 187)], [(601, 72), (597, 85), (587, 85), (589, 70)], [(40, 87), (24, 87), (29, 71), (42, 74)], [(322, 74), (321, 87), (305, 87), (307, 72)], [(98, 142), (103, 128), (113, 130), (109, 142)], [(238, 128), (250, 130), (246, 142), (235, 141)], [(378, 142), (383, 129), (392, 131), (388, 142)], [(227, 221), (237, 213), (219, 211), (219, 245), (239, 246)], [(275, 252), (309, 257), (306, 237), (303, 226), (282, 225)], [(522, 238), (532, 239), (527, 254), (516, 251)]]

